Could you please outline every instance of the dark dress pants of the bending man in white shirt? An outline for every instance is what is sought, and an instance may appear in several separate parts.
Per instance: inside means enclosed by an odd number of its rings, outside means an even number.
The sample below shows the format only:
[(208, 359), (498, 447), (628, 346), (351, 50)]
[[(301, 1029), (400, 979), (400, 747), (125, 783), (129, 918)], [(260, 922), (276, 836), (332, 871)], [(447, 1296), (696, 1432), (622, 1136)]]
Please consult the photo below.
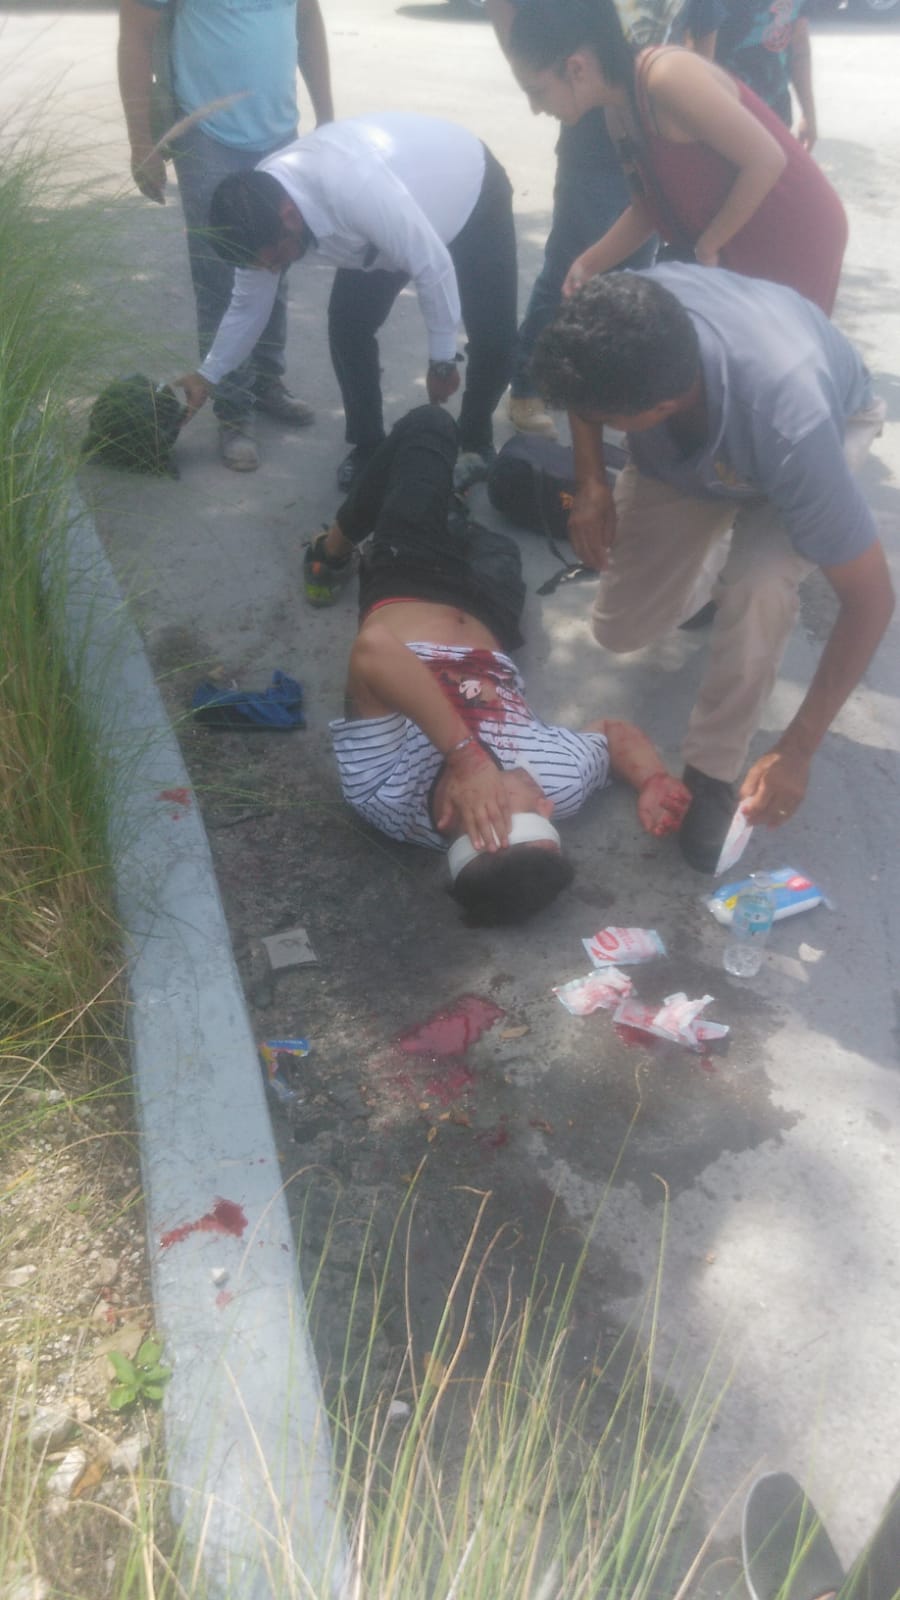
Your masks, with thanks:
[[(460, 448), (485, 450), (492, 416), (509, 382), (516, 349), (516, 226), (512, 187), (485, 149), (479, 198), (447, 246), (466, 328), (466, 386), (460, 408)], [(328, 302), (328, 346), (341, 389), (349, 445), (372, 450), (384, 438), (378, 330), (408, 283), (404, 272), (340, 267)]]

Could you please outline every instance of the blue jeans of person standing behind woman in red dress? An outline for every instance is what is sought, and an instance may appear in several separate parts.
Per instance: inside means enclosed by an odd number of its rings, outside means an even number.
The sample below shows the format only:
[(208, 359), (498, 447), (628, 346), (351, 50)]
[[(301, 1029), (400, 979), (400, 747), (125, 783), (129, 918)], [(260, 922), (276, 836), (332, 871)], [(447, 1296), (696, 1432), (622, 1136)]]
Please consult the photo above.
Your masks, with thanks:
[[(544, 245), (544, 264), (535, 280), (516, 341), (511, 389), (522, 398), (536, 394), (530, 376), (532, 352), (538, 334), (559, 310), (569, 267), (588, 245), (602, 238), (631, 198), (602, 110), (589, 110), (572, 128), (564, 128), (556, 157), (552, 222)], [(621, 266), (649, 267), (653, 250), (655, 245), (650, 242)]]

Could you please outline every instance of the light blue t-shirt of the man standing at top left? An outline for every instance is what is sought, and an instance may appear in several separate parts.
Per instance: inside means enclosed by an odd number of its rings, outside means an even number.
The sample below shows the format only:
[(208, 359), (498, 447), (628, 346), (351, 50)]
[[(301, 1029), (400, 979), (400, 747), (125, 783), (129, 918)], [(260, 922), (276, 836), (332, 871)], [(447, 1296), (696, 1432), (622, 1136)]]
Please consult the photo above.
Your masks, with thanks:
[[(167, 0), (141, 0), (165, 10)], [(226, 94), (200, 120), (221, 144), (271, 150), (296, 133), (296, 0), (175, 0), (171, 80), (186, 112)]]

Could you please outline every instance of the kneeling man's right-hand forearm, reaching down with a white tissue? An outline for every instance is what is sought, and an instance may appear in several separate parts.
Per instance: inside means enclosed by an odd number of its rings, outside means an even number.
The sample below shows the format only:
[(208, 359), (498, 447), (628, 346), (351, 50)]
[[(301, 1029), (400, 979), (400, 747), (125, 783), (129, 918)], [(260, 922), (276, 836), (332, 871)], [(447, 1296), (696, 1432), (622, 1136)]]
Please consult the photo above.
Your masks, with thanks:
[(847, 597), (841, 602), (838, 621), (828, 635), (804, 702), (777, 741), (777, 750), (806, 762), (815, 755), (874, 656), (892, 613), (894, 592), (887, 570), (884, 584), (865, 600)]

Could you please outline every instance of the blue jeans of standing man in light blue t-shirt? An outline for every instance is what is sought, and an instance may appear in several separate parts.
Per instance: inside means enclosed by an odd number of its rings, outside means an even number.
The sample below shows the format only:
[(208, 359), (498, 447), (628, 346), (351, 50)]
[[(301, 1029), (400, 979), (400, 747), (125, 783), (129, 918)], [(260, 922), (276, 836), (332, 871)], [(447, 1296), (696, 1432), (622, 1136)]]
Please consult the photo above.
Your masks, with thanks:
[[(245, 173), (272, 150), (280, 150), (295, 138), (279, 139), (269, 150), (239, 150), (219, 144), (202, 128), (189, 128), (178, 139), (173, 157), (187, 227), (187, 258), (197, 301), (197, 342), (200, 360), (207, 355), (223, 320), (234, 285), (234, 269), (216, 256), (208, 238), (210, 200), (213, 189), (229, 173)], [(287, 341), (287, 274), (282, 272), (272, 315), (247, 362), (226, 373), (216, 386), (215, 413), (223, 422), (235, 422), (253, 410), (253, 384), (258, 379), (282, 378)]]

